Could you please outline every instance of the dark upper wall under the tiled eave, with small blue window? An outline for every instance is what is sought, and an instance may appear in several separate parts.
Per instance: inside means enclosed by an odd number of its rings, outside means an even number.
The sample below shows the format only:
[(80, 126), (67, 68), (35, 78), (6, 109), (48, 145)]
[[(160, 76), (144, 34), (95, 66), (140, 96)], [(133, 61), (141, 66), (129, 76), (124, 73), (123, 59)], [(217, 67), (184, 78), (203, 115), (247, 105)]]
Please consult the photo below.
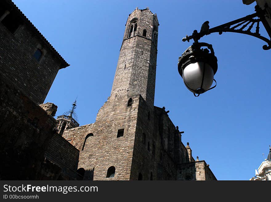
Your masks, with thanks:
[[(18, 16), (22, 24), (14, 33), (9, 31), (0, 22), (0, 73), (13, 83), (17, 88), (37, 104), (43, 103), (47, 93), (60, 69), (61, 61), (51, 47), (42, 40), (29, 23), (24, 19), (16, 8), (10, 9), (10, 1), (0, 2), (0, 16), (7, 6), (11, 15)], [(43, 55), (38, 61), (34, 58), (37, 48)]]

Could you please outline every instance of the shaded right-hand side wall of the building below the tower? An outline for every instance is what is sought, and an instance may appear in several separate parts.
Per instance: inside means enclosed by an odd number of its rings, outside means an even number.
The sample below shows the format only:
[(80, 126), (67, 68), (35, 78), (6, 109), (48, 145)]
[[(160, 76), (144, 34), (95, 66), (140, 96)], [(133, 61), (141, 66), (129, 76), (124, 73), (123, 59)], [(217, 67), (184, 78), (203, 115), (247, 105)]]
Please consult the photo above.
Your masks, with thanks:
[(140, 98), (130, 179), (176, 180), (176, 164), (188, 162), (180, 132), (164, 109)]

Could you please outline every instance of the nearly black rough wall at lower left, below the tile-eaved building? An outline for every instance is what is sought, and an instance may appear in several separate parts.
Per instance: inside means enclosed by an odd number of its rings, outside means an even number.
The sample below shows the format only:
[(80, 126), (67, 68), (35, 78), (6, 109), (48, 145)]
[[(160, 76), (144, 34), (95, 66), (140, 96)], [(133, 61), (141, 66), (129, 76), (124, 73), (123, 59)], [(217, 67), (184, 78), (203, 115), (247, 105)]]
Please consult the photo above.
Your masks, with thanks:
[(56, 121), (0, 75), (0, 179), (41, 178)]

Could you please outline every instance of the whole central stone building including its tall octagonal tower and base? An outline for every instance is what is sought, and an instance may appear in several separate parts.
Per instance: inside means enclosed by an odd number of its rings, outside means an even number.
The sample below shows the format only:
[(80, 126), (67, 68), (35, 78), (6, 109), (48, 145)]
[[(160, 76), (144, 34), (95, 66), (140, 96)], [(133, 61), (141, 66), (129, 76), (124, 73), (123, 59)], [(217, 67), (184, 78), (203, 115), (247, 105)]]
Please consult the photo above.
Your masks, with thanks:
[(165, 108), (153, 105), (158, 26), (148, 8), (129, 15), (111, 96), (95, 123), (64, 130), (80, 150), (85, 180), (185, 180), (192, 171), (191, 179), (216, 180), (195, 162)]

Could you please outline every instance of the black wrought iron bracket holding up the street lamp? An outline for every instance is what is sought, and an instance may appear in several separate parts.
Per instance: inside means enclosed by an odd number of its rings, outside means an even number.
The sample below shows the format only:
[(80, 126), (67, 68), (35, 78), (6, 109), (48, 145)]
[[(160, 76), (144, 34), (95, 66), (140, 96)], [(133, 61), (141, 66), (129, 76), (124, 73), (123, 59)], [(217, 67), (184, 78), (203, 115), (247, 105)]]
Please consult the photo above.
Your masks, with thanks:
[[(235, 32), (235, 33), (241, 33), (241, 34), (246, 34), (246, 35), (251, 35), (254, 37), (257, 37), (258, 39), (261, 39), (265, 41), (268, 45), (263, 45), (264, 50), (269, 50), (271, 49), (271, 27), (269, 26), (268, 22), (265, 19), (265, 16), (269, 16), (269, 8), (267, 4), (265, 4), (265, 8), (261, 9), (260, 6), (256, 5), (255, 6), (255, 11), (256, 13), (247, 15), (243, 18), (233, 20), (229, 23), (225, 23), (222, 25), (219, 25), (217, 27), (213, 27), (209, 29), (208, 31), (202, 31), (202, 32), (197, 32), (197, 30), (194, 30), (193, 34), (191, 36), (186, 35), (185, 38), (183, 38), (183, 41), (188, 41), (193, 39), (195, 43), (198, 43), (198, 40), (203, 37), (204, 35), (209, 35), (214, 32), (218, 32), (220, 35), (223, 32)], [(270, 16), (269, 16), (270, 17)], [(265, 30), (267, 31), (270, 39), (265, 38), (264, 36), (261, 36), (259, 33), (260, 31), (260, 22), (265, 27)], [(251, 29), (253, 26), (256, 25), (256, 30), (255, 32), (251, 32)], [(249, 27), (248, 27), (249, 26)], [(247, 28), (248, 27), (248, 28)], [(245, 29), (247, 28), (247, 29)]]

